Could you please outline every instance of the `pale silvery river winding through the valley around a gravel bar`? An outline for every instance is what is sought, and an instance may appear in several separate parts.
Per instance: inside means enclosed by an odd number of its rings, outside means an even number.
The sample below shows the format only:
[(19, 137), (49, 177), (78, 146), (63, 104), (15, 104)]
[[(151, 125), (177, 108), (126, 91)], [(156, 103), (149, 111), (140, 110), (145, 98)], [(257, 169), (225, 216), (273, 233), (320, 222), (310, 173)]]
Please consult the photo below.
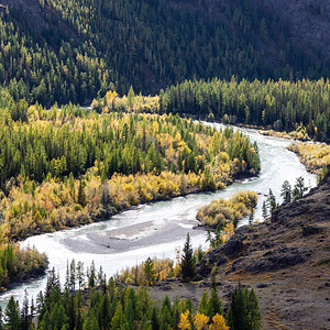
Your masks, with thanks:
[[(223, 128), (217, 123), (207, 124), (217, 129)], [(45, 252), (50, 267), (54, 266), (58, 271), (62, 283), (65, 278), (67, 260), (72, 258), (76, 262), (82, 261), (85, 266), (95, 261), (96, 267), (102, 265), (109, 278), (123, 267), (134, 266), (148, 256), (174, 258), (176, 251), (183, 248), (187, 232), (190, 233), (194, 248), (207, 246), (206, 232), (194, 230), (193, 227), (198, 223), (195, 220), (197, 210), (212, 199), (228, 198), (238, 190), (254, 190), (260, 195), (254, 219), (262, 221), (262, 204), (270, 188), (279, 201), (280, 187), (286, 179), (294, 185), (296, 178), (302, 176), (308, 186), (316, 186), (316, 176), (307, 173), (298, 157), (286, 150), (292, 141), (263, 136), (255, 130), (241, 130), (258, 145), (262, 165), (258, 177), (237, 182), (224, 190), (143, 205), (107, 221), (32, 237), (22, 242), (22, 245), (34, 245), (40, 252)], [(242, 220), (240, 226), (246, 223), (248, 219)], [(35, 299), (45, 284), (44, 277), (19, 285), (0, 295), (0, 305), (3, 307), (11, 295), (22, 301), (25, 289), (29, 298)]]

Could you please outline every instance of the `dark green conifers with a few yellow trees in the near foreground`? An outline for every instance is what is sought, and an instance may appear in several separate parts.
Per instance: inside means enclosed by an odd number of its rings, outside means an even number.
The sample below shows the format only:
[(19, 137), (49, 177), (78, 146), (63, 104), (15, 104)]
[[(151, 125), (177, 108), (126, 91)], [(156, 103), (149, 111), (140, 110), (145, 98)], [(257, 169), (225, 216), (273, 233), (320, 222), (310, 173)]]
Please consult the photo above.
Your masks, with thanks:
[[(191, 256), (189, 237), (184, 248), (179, 268), (187, 272), (187, 256)], [(190, 258), (190, 262), (193, 260)], [(195, 261), (194, 261), (195, 263)], [(216, 266), (215, 266), (216, 267)], [(143, 264), (145, 278), (155, 273), (151, 258)], [(184, 277), (185, 278), (185, 277)], [(160, 279), (158, 279), (160, 280)], [(226, 312), (224, 312), (226, 310)], [(46, 288), (36, 300), (29, 300), (25, 292), (22, 306), (10, 298), (4, 312), (9, 329), (241, 329), (262, 328), (262, 317), (254, 290), (240, 285), (232, 289), (229, 304), (222, 301), (216, 287), (216, 273), (202, 294), (198, 306), (190, 298), (170, 301), (166, 295), (162, 301), (151, 297), (145, 286), (123, 285), (119, 277), (107, 280), (102, 267), (96, 270), (94, 262), (85, 270), (84, 263), (67, 262), (64, 286), (55, 270), (50, 271)], [(1, 327), (2, 317), (0, 318)]]

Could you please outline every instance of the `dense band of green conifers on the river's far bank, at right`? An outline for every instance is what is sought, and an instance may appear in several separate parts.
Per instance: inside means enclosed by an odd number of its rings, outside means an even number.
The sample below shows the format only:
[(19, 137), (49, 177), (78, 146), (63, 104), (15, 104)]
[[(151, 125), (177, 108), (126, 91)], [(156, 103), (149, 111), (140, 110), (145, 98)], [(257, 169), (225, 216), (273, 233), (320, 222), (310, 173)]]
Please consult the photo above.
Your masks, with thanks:
[(195, 114), (224, 123), (244, 123), (276, 131), (330, 139), (330, 81), (324, 80), (186, 80), (160, 92), (160, 112)]

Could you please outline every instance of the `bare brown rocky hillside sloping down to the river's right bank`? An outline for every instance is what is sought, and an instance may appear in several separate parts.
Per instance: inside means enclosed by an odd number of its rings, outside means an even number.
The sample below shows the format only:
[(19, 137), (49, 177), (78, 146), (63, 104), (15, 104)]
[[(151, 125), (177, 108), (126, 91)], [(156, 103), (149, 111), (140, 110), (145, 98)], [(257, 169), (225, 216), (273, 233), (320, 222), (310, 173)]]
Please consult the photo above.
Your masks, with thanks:
[(330, 175), (267, 221), (239, 228), (199, 274), (208, 277), (215, 263), (220, 283), (254, 287), (264, 329), (330, 329)]

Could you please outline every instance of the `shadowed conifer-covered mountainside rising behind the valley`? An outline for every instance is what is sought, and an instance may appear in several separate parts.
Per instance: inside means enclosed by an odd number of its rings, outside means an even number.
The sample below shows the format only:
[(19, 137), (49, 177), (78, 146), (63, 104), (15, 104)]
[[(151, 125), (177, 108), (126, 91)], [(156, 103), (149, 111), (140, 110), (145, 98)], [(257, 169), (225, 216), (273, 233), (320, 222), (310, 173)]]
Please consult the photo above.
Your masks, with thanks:
[[(4, 0), (3, 0), (4, 1)], [(107, 90), (157, 94), (184, 79), (318, 79), (272, 6), (254, 1), (31, 0), (0, 8), (0, 85), (15, 100), (88, 103)]]

